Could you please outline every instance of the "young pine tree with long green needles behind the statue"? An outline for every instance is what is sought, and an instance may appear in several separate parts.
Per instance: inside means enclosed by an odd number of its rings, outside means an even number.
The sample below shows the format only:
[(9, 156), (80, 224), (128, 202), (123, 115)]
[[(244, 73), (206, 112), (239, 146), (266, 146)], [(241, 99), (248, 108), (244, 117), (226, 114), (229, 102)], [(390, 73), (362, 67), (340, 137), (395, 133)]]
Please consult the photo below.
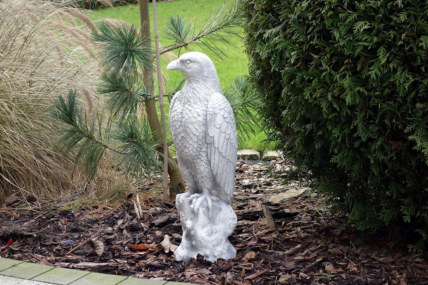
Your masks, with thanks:
[[(101, 81), (98, 92), (105, 104), (99, 110), (86, 112), (71, 90), (67, 100), (59, 98), (54, 114), (68, 125), (60, 140), (63, 150), (77, 150), (77, 160), (83, 160), (88, 172), (94, 174), (99, 161), (111, 153), (115, 167), (125, 168), (134, 175), (159, 173), (162, 157), (162, 132), (157, 113), (153, 76), (154, 53), (148, 23), (148, 3), (140, 1), (142, 27), (117, 23), (101, 23), (93, 40), (101, 49)], [(231, 39), (239, 36), (241, 23), (239, 1), (231, 6), (220, 6), (207, 18), (204, 26), (196, 30), (179, 15), (170, 17), (163, 34), (171, 42), (160, 53), (178, 48), (190, 49), (197, 45), (218, 59), (226, 55), (218, 43), (233, 45)], [(142, 75), (142, 76), (141, 76)], [(173, 84), (167, 96), (171, 98), (181, 89), (184, 81)], [(237, 125), (242, 134), (253, 131), (251, 110), (255, 97), (247, 91), (243, 78), (225, 92), (234, 107)], [(236, 94), (235, 94), (236, 93)], [(102, 105), (102, 104), (101, 104)], [(169, 192), (172, 199), (184, 190), (177, 163), (168, 153)]]

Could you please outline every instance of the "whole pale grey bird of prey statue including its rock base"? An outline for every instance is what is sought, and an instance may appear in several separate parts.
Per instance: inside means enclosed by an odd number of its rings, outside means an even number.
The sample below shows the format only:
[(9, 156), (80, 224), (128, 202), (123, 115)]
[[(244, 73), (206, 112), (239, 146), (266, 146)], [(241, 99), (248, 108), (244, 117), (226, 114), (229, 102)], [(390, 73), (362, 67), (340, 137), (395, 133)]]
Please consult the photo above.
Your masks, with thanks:
[(188, 260), (198, 253), (211, 261), (234, 258), (236, 250), (227, 239), (236, 226), (231, 203), (238, 138), (232, 107), (204, 53), (184, 53), (166, 69), (186, 77), (169, 109), (169, 131), (188, 186), (176, 198), (183, 239), (175, 258)]

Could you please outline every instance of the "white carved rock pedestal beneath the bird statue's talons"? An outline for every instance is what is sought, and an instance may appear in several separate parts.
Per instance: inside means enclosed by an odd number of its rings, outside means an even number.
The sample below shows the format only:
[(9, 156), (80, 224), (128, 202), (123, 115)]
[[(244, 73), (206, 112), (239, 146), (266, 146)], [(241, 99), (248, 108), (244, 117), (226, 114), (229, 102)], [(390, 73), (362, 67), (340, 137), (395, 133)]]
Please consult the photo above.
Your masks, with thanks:
[[(183, 195), (183, 194), (180, 194)], [(183, 238), (180, 246), (175, 249), (176, 260), (189, 261), (200, 253), (206, 260), (217, 261), (217, 258), (235, 258), (236, 249), (227, 239), (237, 223), (232, 205), (212, 200), (211, 213), (207, 202), (202, 202), (196, 213), (190, 208), (190, 198), (176, 198), (176, 207), (180, 211), (183, 227)]]

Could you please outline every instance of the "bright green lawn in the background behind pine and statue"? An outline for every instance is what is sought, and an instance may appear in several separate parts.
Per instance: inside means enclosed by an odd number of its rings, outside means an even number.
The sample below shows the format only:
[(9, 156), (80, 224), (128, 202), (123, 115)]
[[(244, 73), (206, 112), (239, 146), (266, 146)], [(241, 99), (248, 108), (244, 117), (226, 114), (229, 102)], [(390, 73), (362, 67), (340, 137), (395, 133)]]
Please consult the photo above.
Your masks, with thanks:
[[(209, 13), (215, 9), (217, 6), (223, 4), (222, 0), (175, 0), (171, 2), (157, 2), (158, 9), (158, 25), (160, 30), (159, 41), (160, 45), (165, 43), (162, 40), (162, 27), (163, 23), (165, 23), (170, 15), (180, 14), (187, 21), (192, 21), (196, 28), (202, 27), (205, 17), (209, 15)], [(152, 35), (153, 32), (153, 9), (152, 3), (149, 3), (150, 6), (150, 20), (151, 20), (151, 28)], [(96, 15), (94, 15), (94, 13)], [(118, 20), (127, 21), (128, 23), (140, 25), (140, 14), (138, 10), (138, 5), (132, 6), (117, 6), (114, 8), (108, 9), (98, 9), (92, 14), (93, 18), (115, 18)], [(196, 22), (195, 22), (196, 21)], [(223, 46), (223, 50), (225, 50), (228, 58), (223, 61), (218, 61), (213, 59), (213, 62), (216, 66), (217, 73), (220, 79), (220, 83), (223, 86), (223, 89), (229, 86), (237, 76), (239, 75), (247, 75), (248, 74), (248, 59), (244, 53), (244, 49), (242, 47), (241, 40), (235, 40), (235, 45), (237, 47), (225, 47)], [(191, 50), (200, 50), (196, 45), (190, 47)], [(172, 53), (174, 56), (178, 56), (179, 52), (182, 54), (186, 52), (186, 50), (174, 50)], [(162, 58), (162, 73), (166, 80), (166, 85), (175, 82), (182, 77), (182, 74), (177, 71), (166, 71), (166, 65), (171, 59), (166, 59), (165, 56)], [(167, 110), (166, 110), (167, 111)], [(258, 135), (252, 136), (250, 140), (245, 140), (239, 142), (240, 148), (263, 148), (264, 143), (262, 140), (266, 138), (265, 133), (259, 132)], [(269, 145), (271, 146), (271, 145)]]

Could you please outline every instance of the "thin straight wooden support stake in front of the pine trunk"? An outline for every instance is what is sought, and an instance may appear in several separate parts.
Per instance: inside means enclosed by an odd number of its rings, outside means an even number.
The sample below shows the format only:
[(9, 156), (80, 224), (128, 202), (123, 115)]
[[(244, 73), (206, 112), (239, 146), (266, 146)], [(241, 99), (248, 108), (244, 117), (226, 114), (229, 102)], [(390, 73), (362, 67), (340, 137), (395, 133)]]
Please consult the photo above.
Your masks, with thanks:
[(166, 120), (165, 110), (163, 109), (163, 85), (160, 72), (160, 53), (159, 53), (159, 34), (158, 34), (158, 14), (156, 12), (156, 0), (153, 3), (153, 21), (155, 25), (155, 47), (156, 47), (156, 67), (158, 70), (158, 87), (159, 87), (159, 106), (160, 119), (162, 121), (163, 132), (163, 200), (168, 199), (168, 144), (166, 142)]

